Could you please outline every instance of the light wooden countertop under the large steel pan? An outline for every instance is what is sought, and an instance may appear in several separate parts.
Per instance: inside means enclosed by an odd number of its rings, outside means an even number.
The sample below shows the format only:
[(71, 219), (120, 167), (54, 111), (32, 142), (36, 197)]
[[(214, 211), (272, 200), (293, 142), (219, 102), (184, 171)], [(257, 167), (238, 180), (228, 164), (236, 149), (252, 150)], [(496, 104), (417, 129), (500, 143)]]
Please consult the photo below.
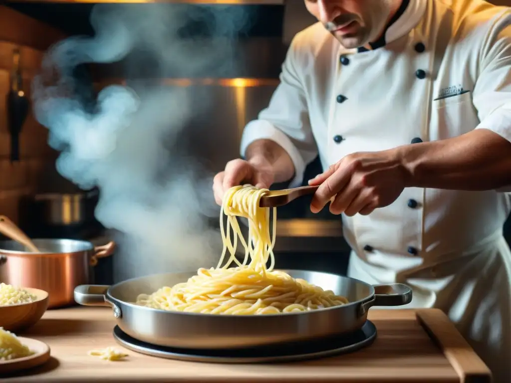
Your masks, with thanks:
[[(115, 325), (108, 307), (50, 310), (22, 334), (46, 342), (51, 360), (31, 371), (2, 379), (31, 382), (490, 382), (490, 372), (436, 309), (369, 310), (378, 329), (373, 345), (351, 354), (288, 364), (228, 365), (179, 362), (127, 350), (125, 361), (87, 355), (114, 346)], [(430, 334), (428, 334), (430, 333)], [(438, 343), (438, 346), (435, 345)]]

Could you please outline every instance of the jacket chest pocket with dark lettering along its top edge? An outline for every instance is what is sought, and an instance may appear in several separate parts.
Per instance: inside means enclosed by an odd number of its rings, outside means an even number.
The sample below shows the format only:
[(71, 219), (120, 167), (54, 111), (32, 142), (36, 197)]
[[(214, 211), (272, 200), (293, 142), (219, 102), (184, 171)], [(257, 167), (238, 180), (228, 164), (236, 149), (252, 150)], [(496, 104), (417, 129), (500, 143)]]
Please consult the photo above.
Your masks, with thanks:
[(472, 104), (472, 92), (433, 101), (430, 139), (439, 140), (459, 136), (479, 124)]

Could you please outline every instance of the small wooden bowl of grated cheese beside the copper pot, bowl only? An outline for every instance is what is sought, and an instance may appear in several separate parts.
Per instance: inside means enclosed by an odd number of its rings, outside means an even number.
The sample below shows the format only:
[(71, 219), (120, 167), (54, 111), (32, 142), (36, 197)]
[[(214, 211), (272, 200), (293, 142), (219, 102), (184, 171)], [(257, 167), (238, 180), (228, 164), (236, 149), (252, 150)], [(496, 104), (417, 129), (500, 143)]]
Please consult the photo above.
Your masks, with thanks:
[(23, 288), (37, 299), (34, 302), (0, 306), (0, 327), (19, 332), (36, 324), (48, 308), (48, 293), (44, 290)]

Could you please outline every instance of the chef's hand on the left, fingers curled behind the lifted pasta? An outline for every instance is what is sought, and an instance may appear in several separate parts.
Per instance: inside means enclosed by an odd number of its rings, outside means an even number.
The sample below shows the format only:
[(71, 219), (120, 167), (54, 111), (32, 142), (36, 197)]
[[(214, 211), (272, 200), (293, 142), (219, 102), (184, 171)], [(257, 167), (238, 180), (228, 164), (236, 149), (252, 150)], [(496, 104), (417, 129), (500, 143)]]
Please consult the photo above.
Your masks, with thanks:
[(221, 206), (225, 192), (233, 186), (248, 183), (260, 189), (267, 189), (273, 182), (273, 168), (264, 159), (253, 158), (250, 161), (235, 159), (227, 162), (225, 170), (213, 179), (215, 201)]

